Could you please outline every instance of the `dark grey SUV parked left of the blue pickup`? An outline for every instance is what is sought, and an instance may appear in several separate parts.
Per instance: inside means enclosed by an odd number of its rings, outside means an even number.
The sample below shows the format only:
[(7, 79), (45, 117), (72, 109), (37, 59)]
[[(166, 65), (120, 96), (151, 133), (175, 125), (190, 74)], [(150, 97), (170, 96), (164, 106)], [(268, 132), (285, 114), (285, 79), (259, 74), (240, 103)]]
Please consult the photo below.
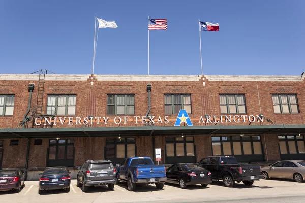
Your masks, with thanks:
[(86, 192), (89, 186), (108, 185), (113, 190), (116, 180), (116, 171), (109, 160), (86, 161), (77, 173), (77, 186)]

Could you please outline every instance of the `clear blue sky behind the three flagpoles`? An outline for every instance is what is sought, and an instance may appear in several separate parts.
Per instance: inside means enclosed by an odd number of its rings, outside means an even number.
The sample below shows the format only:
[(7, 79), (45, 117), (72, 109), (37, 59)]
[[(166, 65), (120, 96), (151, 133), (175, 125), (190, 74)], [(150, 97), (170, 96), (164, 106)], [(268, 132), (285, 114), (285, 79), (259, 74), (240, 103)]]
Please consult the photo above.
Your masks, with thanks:
[(147, 74), (148, 16), (167, 18), (150, 31), (150, 74), (301, 75), (305, 71), (305, 1), (15, 1), (0, 3), (0, 73)]

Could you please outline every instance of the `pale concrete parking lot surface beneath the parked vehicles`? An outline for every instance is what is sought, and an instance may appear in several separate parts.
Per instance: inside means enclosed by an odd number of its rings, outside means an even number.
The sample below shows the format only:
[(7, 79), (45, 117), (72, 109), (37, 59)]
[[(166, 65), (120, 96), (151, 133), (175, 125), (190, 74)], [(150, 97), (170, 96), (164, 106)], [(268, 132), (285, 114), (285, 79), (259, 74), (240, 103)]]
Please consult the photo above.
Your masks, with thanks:
[[(137, 186), (136, 191), (127, 190), (127, 185), (115, 185), (114, 190), (105, 187), (89, 188), (84, 193), (76, 186), (76, 180), (71, 181), (71, 191), (46, 191), (38, 194), (38, 181), (27, 181), (20, 193), (13, 191), (0, 192), (1, 202), (212, 202), (212, 201), (239, 201), (253, 202), (255, 199), (280, 198), (280, 201), (291, 198), (305, 197), (305, 182), (296, 183), (290, 180), (272, 179), (255, 181), (252, 186), (236, 183), (234, 188), (223, 186), (222, 181), (213, 182), (208, 187), (201, 185), (189, 186), (180, 189), (178, 185), (166, 184), (163, 190), (155, 185)], [(245, 201), (252, 199), (251, 201)], [(298, 200), (299, 201), (299, 200)], [(270, 202), (270, 201), (267, 201)], [(283, 201), (284, 202), (284, 201)], [(293, 202), (293, 201), (289, 201)], [(296, 202), (296, 201), (295, 201)]]

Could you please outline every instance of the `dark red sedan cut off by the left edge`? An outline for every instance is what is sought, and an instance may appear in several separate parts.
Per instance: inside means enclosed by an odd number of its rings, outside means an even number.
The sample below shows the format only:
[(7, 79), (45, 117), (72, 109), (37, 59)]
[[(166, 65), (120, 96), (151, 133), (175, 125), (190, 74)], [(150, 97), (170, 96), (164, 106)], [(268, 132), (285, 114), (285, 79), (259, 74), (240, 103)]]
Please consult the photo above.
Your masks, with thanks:
[(20, 170), (0, 170), (0, 191), (20, 192), (24, 187), (24, 174)]

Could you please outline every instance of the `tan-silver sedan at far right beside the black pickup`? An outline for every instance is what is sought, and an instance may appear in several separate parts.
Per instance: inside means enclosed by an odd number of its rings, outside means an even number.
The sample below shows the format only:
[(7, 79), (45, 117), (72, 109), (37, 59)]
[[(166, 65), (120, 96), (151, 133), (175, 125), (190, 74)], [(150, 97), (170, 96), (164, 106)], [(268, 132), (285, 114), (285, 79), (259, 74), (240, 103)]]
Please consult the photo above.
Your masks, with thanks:
[(296, 182), (305, 179), (305, 161), (278, 161), (268, 167), (261, 168), (263, 179), (288, 178)]

